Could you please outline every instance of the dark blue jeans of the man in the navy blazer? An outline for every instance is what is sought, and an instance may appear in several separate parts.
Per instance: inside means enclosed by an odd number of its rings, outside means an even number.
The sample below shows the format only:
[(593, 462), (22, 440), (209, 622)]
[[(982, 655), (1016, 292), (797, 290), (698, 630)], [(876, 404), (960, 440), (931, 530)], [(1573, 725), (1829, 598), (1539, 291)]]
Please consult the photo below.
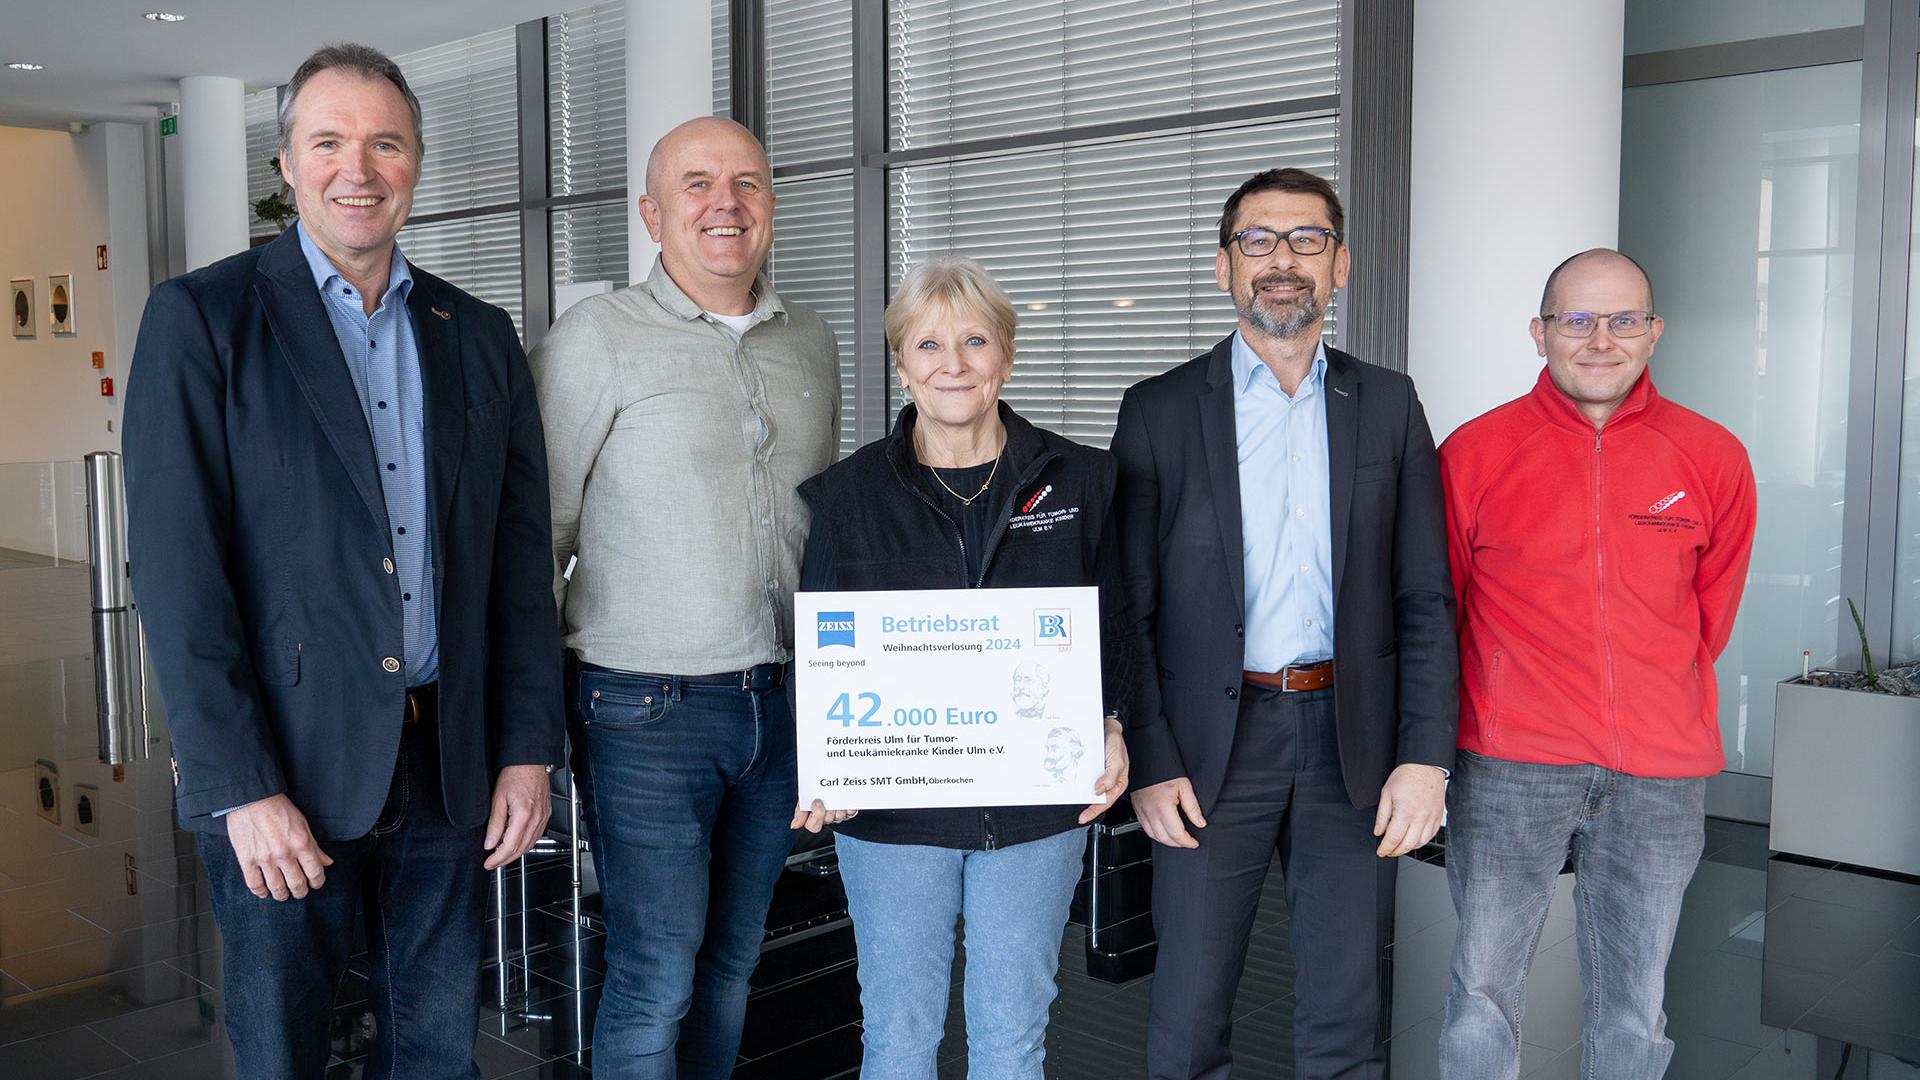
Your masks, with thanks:
[(432, 724), (407, 724), (372, 832), (321, 840), (326, 884), (259, 899), (225, 834), (200, 834), (225, 959), (227, 1036), (248, 1080), (326, 1072), (328, 1015), (365, 903), (372, 1015), (369, 1080), (470, 1080), (486, 924), (484, 830), (457, 828), (440, 798)]

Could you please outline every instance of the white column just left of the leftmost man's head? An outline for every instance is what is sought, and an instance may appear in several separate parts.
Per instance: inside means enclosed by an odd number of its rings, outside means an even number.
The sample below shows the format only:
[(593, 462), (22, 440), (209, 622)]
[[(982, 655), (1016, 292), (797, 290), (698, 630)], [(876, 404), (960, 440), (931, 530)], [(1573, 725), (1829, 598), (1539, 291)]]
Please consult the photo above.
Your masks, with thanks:
[(225, 75), (180, 79), (180, 215), (186, 265), (204, 267), (244, 252), (246, 83)]

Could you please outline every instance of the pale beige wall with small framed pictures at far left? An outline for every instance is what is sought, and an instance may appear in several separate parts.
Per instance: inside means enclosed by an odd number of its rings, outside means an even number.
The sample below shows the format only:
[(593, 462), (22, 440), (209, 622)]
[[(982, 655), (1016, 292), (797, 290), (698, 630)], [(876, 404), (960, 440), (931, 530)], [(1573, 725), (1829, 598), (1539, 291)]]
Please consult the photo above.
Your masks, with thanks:
[[(94, 246), (108, 244), (109, 269)], [(48, 275), (73, 275), (73, 336), (46, 323)], [(119, 450), (127, 359), (148, 292), (144, 135), (100, 123), (84, 135), (0, 127), (0, 277), (31, 277), (29, 340), (0, 336), (0, 548), (84, 557), (71, 477), (21, 463)], [(94, 352), (106, 367), (92, 367)], [(100, 379), (113, 379), (113, 398)], [(60, 542), (56, 544), (56, 534)]]

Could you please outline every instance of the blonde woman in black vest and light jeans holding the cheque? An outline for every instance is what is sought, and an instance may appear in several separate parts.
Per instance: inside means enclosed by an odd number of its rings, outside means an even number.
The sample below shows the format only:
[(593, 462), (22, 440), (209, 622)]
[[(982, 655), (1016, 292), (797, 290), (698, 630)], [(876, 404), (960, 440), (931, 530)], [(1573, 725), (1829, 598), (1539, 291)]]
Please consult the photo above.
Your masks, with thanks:
[[(887, 306), (887, 344), (912, 404), (893, 434), (801, 484), (814, 511), (801, 588), (1098, 586), (1104, 801), (860, 813), (814, 801), (795, 811), (795, 828), (835, 826), (860, 951), (864, 1080), (933, 1080), (956, 919), (966, 920), (968, 1076), (1041, 1078), (1087, 822), (1127, 788), (1116, 463), (1000, 402), (1014, 325), (1006, 292), (973, 259), (929, 259), (906, 275)], [(1050, 528), (1010, 528), (1037, 502)]]

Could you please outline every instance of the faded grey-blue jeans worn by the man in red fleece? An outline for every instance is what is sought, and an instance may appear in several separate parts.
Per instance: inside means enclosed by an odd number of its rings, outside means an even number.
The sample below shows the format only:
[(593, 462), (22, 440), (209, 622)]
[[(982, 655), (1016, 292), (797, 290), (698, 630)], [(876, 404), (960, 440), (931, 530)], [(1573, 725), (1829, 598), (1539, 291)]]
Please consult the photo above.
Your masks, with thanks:
[(1667, 957), (1707, 840), (1707, 780), (1461, 751), (1448, 786), (1446, 876), (1459, 913), (1440, 1074), (1521, 1074), (1526, 970), (1572, 851), (1586, 1020), (1580, 1076), (1657, 1080)]

